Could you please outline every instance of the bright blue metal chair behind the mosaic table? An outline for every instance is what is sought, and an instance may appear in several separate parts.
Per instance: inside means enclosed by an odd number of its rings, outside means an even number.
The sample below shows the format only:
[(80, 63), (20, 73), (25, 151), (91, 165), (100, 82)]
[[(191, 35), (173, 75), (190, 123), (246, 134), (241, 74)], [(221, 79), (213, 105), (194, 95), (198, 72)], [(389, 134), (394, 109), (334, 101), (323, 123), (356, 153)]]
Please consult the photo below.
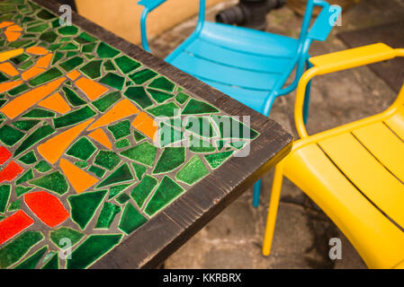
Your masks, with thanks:
[[(141, 43), (150, 52), (146, 30), (148, 13), (166, 0), (141, 0)], [(313, 40), (324, 41), (341, 9), (322, 0), (308, 0), (299, 39), (261, 30), (206, 22), (205, 0), (200, 0), (198, 24), (193, 34), (166, 57), (166, 62), (192, 74), (204, 83), (228, 94), (251, 109), (269, 116), (276, 97), (296, 89), (304, 67), (310, 68), (309, 48)], [(311, 25), (314, 6), (322, 7)], [(296, 67), (293, 82), (283, 87)], [(304, 104), (307, 120), (310, 84)], [(258, 206), (261, 179), (254, 186), (253, 205)]]

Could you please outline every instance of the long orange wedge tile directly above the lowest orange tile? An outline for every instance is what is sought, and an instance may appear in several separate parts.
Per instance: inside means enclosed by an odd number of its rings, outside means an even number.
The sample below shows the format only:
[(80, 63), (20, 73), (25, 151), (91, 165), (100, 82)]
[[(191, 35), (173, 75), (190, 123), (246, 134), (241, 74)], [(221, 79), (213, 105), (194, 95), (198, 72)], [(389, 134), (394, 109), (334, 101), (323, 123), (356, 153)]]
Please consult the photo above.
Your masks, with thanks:
[(65, 152), (70, 143), (73, 143), (76, 137), (85, 130), (85, 127), (90, 125), (93, 121), (94, 119), (88, 119), (84, 123), (71, 127), (67, 129), (67, 131), (52, 137), (47, 142), (41, 143), (38, 146), (38, 152), (50, 163), (55, 163), (63, 152)]

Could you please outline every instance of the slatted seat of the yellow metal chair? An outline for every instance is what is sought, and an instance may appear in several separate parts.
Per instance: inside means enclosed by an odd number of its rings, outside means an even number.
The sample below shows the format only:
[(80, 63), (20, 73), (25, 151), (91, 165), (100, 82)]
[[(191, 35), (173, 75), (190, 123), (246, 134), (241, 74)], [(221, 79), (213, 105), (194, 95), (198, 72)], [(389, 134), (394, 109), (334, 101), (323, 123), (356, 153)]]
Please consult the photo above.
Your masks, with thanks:
[(329, 130), (315, 142), (297, 141), (283, 165), (283, 174), (321, 206), (374, 268), (404, 258), (404, 136), (399, 135), (404, 135), (399, 114), (344, 133)]

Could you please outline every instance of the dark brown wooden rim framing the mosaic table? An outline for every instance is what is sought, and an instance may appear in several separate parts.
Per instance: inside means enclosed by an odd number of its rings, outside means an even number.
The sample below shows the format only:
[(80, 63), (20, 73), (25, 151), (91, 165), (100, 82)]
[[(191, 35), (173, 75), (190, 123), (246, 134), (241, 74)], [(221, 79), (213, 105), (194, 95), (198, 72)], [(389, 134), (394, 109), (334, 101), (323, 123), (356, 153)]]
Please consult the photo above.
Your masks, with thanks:
[[(59, 14), (60, 4), (54, 0), (31, 1)], [(91, 266), (91, 268), (157, 267), (248, 187), (251, 187), (258, 178), (281, 161), (292, 149), (292, 135), (271, 118), (242, 105), (221, 91), (211, 88), (193, 78), (192, 75), (185, 74), (175, 66), (167, 64), (163, 59), (149, 54), (74, 12), (73, 23), (130, 57), (138, 58), (143, 64), (180, 83), (186, 90), (210, 101), (229, 115), (251, 116), (251, 127), (260, 132), (256, 140), (250, 144), (250, 154), (247, 158), (233, 157), (226, 161), (218, 170), (177, 198), (163, 212), (158, 213)], [(260, 163), (252, 166), (251, 161)], [(218, 182), (223, 183), (223, 178), (229, 182), (226, 187), (217, 185)], [(178, 210), (183, 212), (178, 213)]]

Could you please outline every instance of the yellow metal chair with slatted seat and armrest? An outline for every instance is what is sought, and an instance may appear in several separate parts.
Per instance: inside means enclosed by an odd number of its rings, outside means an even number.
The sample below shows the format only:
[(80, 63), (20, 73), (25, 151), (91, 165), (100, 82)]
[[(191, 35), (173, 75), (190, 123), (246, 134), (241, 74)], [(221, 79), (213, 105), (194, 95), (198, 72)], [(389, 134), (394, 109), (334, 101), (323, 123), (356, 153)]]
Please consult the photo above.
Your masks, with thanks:
[(404, 266), (404, 85), (380, 114), (308, 135), (302, 108), (315, 75), (404, 57), (378, 43), (311, 57), (301, 76), (294, 117), (301, 137), (275, 169), (263, 254), (269, 255), (283, 176), (328, 214), (370, 268)]

